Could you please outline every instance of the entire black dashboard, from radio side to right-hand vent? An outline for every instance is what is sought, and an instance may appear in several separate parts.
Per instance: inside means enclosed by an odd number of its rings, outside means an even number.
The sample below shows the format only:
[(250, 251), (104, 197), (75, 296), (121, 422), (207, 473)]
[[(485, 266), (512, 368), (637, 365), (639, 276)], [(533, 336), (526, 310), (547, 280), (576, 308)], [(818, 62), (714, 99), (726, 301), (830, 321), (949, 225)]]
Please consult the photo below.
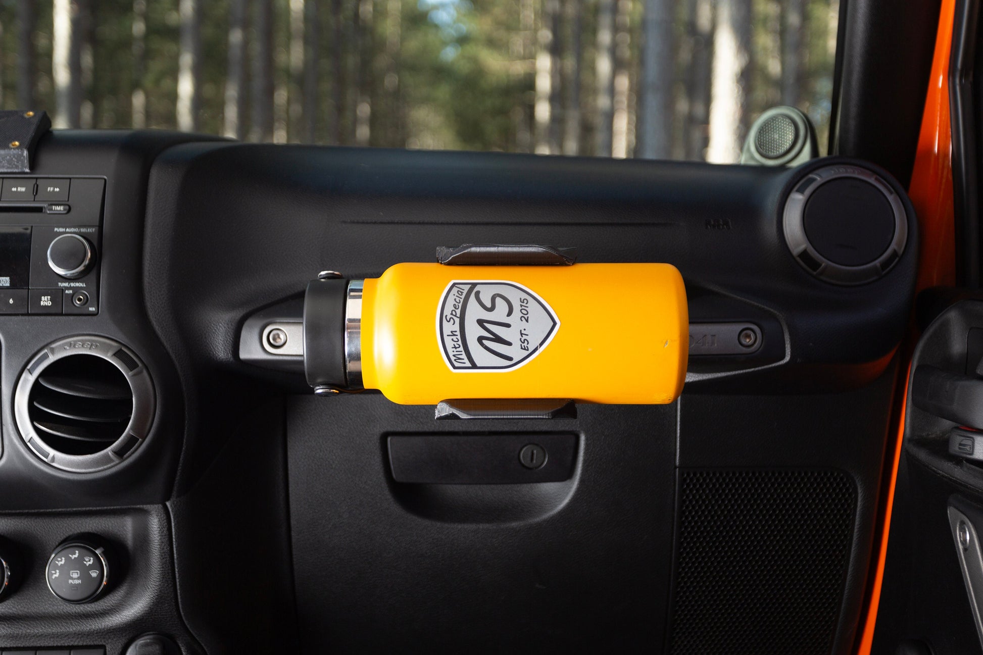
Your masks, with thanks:
[[(786, 246), (786, 200), (804, 205), (823, 175), (858, 168), (903, 209), (906, 241), (897, 257), (882, 258), (873, 281), (834, 283), (813, 267), (822, 263)], [(34, 576), (0, 598), (0, 649), (77, 643), (116, 653), (159, 630), (185, 652), (208, 653), (716, 652), (713, 638), (723, 634), (753, 650), (777, 628), (765, 622), (738, 634), (726, 617), (756, 625), (768, 603), (822, 595), (822, 612), (807, 603), (786, 617), (795, 628), (787, 643), (798, 652), (817, 643), (815, 652), (848, 650), (918, 252), (911, 206), (876, 166), (56, 132), (40, 143), (30, 176), (105, 188), (94, 224), (97, 311), (0, 314), (0, 538), (28, 552)], [(0, 224), (13, 225), (3, 207), (0, 196)], [(255, 317), (296, 315), (319, 270), (371, 277), (465, 243), (549, 244), (577, 248), (580, 262), (675, 265), (699, 327), (682, 398), (582, 405), (549, 420), (435, 421), (433, 407), (371, 391), (318, 398), (296, 366), (240, 357)], [(760, 347), (715, 351), (720, 324), (754, 326)], [(95, 472), (48, 465), (14, 418), (25, 368), (41, 367), (44, 348), (66, 337), (125, 345), (114, 366), (143, 362), (153, 383), (139, 447)], [(70, 387), (64, 376), (45, 384)], [(119, 401), (114, 388), (103, 387), (105, 407)], [(397, 481), (390, 467), (390, 437), (505, 443), (516, 434), (549, 434), (544, 443), (562, 435), (572, 465), (545, 482), (488, 484), (496, 478), (487, 476), (473, 485)], [(772, 511), (758, 503), (764, 497), (790, 500)], [(733, 512), (745, 520), (730, 534), (720, 517)], [(785, 528), (809, 512), (840, 530), (842, 560), (783, 559)], [(706, 543), (763, 558), (712, 562), (712, 549), (687, 537), (704, 529), (713, 537)], [(121, 586), (77, 606), (41, 593), (51, 549), (92, 532), (122, 553)], [(700, 583), (701, 571), (738, 568), (748, 586)], [(815, 586), (796, 592), (796, 583)], [(745, 615), (695, 611), (724, 608), (735, 589), (770, 595), (746, 604)], [(120, 614), (104, 621), (110, 611)], [(25, 619), (31, 613), (37, 621)], [(59, 621), (45, 624), (49, 616)], [(71, 641), (86, 622), (86, 638)]]

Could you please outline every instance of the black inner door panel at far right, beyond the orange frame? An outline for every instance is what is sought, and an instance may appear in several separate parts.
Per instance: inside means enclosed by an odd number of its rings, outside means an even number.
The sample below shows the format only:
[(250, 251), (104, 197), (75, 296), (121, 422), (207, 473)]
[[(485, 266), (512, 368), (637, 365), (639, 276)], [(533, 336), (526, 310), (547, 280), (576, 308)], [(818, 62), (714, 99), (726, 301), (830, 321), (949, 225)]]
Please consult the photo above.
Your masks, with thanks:
[[(876, 653), (894, 653), (905, 643), (924, 644), (935, 655), (981, 652), (949, 508), (975, 518), (977, 529), (983, 525), (983, 468), (951, 451), (951, 432), (961, 423), (945, 418), (971, 414), (979, 399), (956, 396), (957, 387), (925, 377), (945, 372), (949, 381), (979, 384), (980, 327), (983, 302), (957, 302), (925, 330), (912, 357)], [(951, 407), (937, 402), (947, 398)]]

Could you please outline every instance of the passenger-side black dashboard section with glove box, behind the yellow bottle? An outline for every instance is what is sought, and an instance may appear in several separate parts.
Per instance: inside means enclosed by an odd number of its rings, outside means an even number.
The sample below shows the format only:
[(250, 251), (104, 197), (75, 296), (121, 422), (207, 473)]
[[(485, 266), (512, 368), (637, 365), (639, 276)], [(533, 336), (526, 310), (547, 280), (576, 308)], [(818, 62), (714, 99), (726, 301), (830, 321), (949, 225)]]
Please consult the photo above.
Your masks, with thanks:
[[(568, 652), (578, 643), (610, 644), (616, 633), (626, 650), (665, 643), (687, 652), (673, 645), (681, 643), (672, 635), (683, 622), (696, 632), (726, 624), (706, 625), (707, 617), (673, 606), (692, 595), (675, 563), (700, 566), (704, 557), (678, 550), (677, 476), (782, 467), (801, 474), (800, 492), (826, 499), (822, 487), (809, 486), (809, 471), (845, 471), (853, 491), (842, 497), (848, 514), (838, 524), (847, 526), (848, 565), (836, 573), (844, 586), (830, 587), (834, 614), (822, 637), (844, 652), (866, 579), (891, 361), (911, 302), (917, 230), (902, 191), (884, 182), (906, 208), (907, 246), (876, 281), (843, 286), (792, 257), (781, 215), (804, 178), (851, 165), (827, 159), (776, 170), (226, 144), (169, 149), (150, 178), (145, 279), (154, 283), (145, 292), (188, 403), (176, 494), (213, 484), (209, 462), (227, 461), (237, 447), (240, 433), (230, 426), (240, 424), (245, 407), (270, 393), (300, 394), (278, 416), (286, 426), (291, 544), (290, 560), (280, 565), (293, 571), (303, 650), (412, 642), (427, 652), (462, 645)], [(691, 322), (751, 322), (763, 347), (753, 357), (691, 359), (677, 407), (581, 407), (573, 421), (463, 426), (435, 424), (431, 408), (399, 407), (376, 393), (303, 397), (301, 373), (237, 358), (244, 321), (266, 308), (269, 316), (286, 311), (277, 308), (289, 303), (280, 303), (298, 298), (318, 270), (374, 276), (398, 262), (433, 261), (437, 246), (462, 243), (572, 246), (581, 262), (669, 262), (686, 279)], [(392, 433), (525, 430), (580, 436), (570, 481), (535, 489), (407, 485), (386, 465)], [(251, 479), (249, 464), (238, 466)], [(754, 488), (744, 493), (753, 497)], [(187, 518), (184, 530), (205, 529), (207, 519), (185, 505), (176, 514), (179, 523)], [(634, 513), (639, 507), (646, 511)], [(262, 516), (280, 524), (273, 510), (260, 507)], [(749, 526), (764, 535), (766, 550), (781, 545), (772, 541), (781, 521)], [(233, 584), (196, 564), (207, 559), (202, 547), (186, 568), (179, 555), (185, 598), (202, 586)], [(781, 575), (787, 563), (776, 562), (772, 573)], [(220, 623), (237, 642), (260, 638), (233, 617)], [(213, 633), (207, 645), (219, 643)]]

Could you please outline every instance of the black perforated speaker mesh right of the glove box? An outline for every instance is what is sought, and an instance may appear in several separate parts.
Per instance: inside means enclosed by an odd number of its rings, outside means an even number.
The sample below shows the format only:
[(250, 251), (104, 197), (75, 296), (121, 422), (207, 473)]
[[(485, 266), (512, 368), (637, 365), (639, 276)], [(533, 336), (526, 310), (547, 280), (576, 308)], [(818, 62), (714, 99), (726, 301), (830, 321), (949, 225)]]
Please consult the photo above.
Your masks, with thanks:
[(856, 488), (833, 470), (682, 470), (671, 652), (829, 653)]

